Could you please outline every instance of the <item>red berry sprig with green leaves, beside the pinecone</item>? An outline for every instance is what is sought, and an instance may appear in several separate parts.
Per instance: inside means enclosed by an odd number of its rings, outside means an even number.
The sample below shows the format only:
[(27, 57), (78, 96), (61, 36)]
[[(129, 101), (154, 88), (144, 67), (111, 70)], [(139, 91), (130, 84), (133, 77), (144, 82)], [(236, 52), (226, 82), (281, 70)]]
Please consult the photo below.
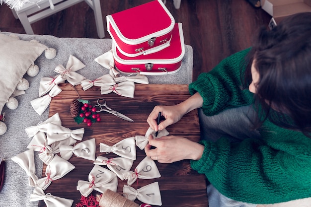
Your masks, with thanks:
[(92, 123), (100, 122), (100, 120), (100, 115), (96, 113), (96, 109), (88, 101), (81, 106), (79, 116), (75, 118), (78, 124), (84, 122), (88, 127), (92, 126)]

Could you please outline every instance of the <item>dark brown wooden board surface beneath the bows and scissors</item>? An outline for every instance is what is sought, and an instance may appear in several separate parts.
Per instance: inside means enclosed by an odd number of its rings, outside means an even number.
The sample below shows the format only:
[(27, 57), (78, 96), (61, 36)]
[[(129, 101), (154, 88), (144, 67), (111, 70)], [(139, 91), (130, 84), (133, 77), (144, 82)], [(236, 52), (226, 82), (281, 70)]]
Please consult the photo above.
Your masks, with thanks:
[[(180, 103), (190, 96), (188, 85), (186, 84), (135, 84), (134, 98), (119, 96), (115, 93), (106, 95), (100, 94), (99, 87), (91, 87), (83, 91), (81, 86), (76, 89), (81, 99), (89, 100), (91, 105), (95, 105), (98, 98), (105, 98), (107, 104), (112, 109), (130, 117), (135, 122), (124, 121), (114, 115), (106, 112), (101, 113), (101, 121), (87, 127), (85, 123), (77, 124), (70, 116), (70, 103), (78, 98), (74, 87), (68, 83), (59, 84), (62, 92), (52, 99), (50, 104), (49, 117), (59, 113), (62, 125), (70, 129), (84, 128), (83, 140), (96, 139), (96, 157), (106, 156), (108, 158), (117, 157), (113, 153), (99, 152), (99, 143), (103, 142), (113, 145), (124, 138), (134, 137), (136, 135), (145, 135), (149, 125), (146, 122), (148, 115), (156, 105), (174, 105)], [(170, 135), (182, 136), (194, 141), (200, 138), (200, 127), (197, 111), (194, 110), (185, 115), (178, 123), (167, 127)], [(136, 147), (137, 159), (133, 163), (131, 171), (146, 157), (144, 150)], [(54, 196), (73, 199), (73, 207), (79, 202), (81, 197), (76, 190), (78, 180), (88, 180), (88, 174), (93, 168), (93, 161), (78, 158), (73, 155), (69, 162), (76, 166), (74, 170), (65, 177), (55, 180), (45, 190), (45, 193), (51, 193)], [(182, 160), (171, 164), (162, 164), (156, 162), (161, 174), (160, 178), (143, 180), (139, 179), (132, 185), (138, 189), (153, 182), (158, 182), (160, 187), (162, 207), (208, 207), (206, 193), (206, 178), (198, 174), (190, 167), (189, 160)], [(106, 168), (106, 166), (104, 166)], [(42, 176), (45, 177), (46, 165), (43, 166)], [(118, 179), (118, 193), (122, 193), (122, 188), (127, 181)], [(93, 194), (100, 194), (93, 191)], [(135, 200), (141, 204), (140, 201)], [(39, 207), (44, 207), (43, 201), (39, 202)]]

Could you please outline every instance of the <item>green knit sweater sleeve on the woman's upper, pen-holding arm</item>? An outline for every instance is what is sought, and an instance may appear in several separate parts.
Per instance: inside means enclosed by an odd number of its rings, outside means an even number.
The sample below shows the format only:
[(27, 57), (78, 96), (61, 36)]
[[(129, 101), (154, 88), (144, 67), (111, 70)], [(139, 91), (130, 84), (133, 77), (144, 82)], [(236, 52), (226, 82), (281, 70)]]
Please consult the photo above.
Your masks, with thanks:
[(203, 98), (203, 112), (215, 115), (225, 109), (249, 105), (253, 94), (241, 89), (241, 67), (250, 49), (240, 51), (224, 59), (210, 72), (201, 73), (189, 85), (190, 94), (199, 92)]

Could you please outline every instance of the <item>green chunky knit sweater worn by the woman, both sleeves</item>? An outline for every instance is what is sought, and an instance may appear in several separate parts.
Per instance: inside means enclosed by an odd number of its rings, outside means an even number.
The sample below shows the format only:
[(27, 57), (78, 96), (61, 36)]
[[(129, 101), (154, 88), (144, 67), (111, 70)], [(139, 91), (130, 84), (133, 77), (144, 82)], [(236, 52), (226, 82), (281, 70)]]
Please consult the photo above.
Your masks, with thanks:
[[(189, 85), (191, 94), (201, 94), (206, 115), (253, 103), (253, 94), (240, 87), (240, 63), (248, 51), (224, 59)], [(311, 138), (268, 120), (260, 134), (262, 139), (239, 143), (225, 137), (201, 141), (205, 145), (202, 158), (191, 160), (191, 167), (236, 201), (274, 204), (311, 197)]]

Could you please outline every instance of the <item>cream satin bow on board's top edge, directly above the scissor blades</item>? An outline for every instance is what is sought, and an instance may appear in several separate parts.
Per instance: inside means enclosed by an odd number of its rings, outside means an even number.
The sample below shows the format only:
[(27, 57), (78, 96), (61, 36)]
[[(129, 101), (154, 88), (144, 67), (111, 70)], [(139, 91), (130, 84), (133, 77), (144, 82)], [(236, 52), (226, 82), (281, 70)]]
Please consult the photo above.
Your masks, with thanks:
[(108, 94), (114, 92), (120, 96), (134, 98), (135, 83), (132, 81), (120, 82), (112, 86), (101, 86), (100, 94)]

